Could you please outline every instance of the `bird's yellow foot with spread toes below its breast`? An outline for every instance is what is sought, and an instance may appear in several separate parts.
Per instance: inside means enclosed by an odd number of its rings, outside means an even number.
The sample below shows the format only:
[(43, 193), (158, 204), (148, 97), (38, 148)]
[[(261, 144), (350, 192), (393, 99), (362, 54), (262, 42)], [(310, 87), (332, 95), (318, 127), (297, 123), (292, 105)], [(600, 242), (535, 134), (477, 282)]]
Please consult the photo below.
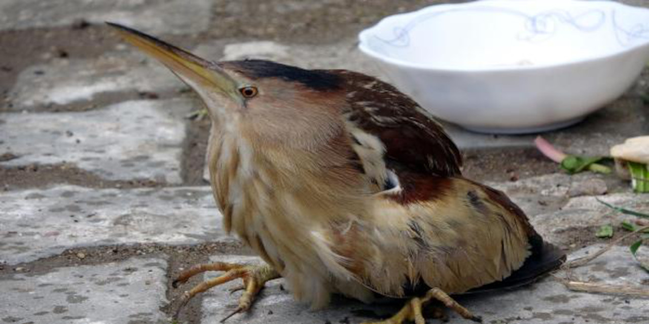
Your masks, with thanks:
[(241, 278), (243, 280), (243, 286), (241, 286), (241, 288), (233, 290), (244, 290), (241, 297), (239, 297), (239, 306), (234, 312), (232, 312), (232, 314), (227, 316), (227, 318), (224, 318), (222, 320), (223, 322), (225, 321), (225, 319), (230, 318), (230, 316), (237, 314), (238, 312), (245, 312), (246, 310), (249, 310), (254, 297), (259, 293), (260, 290), (262, 290), (263, 285), (266, 283), (266, 281), (280, 277), (280, 274), (267, 264), (253, 266), (249, 264), (214, 262), (197, 264), (189, 268), (188, 270), (181, 272), (180, 275), (178, 275), (177, 279), (173, 281), (172, 286), (174, 288), (177, 288), (178, 284), (188, 281), (190, 277), (208, 271), (222, 271), (225, 273), (219, 275), (219, 277), (203, 281), (202, 283), (199, 283), (191, 288), (191, 290), (184, 292), (184, 294), (182, 294), (182, 297), (180, 298), (180, 305), (178, 305), (176, 317), (178, 317), (178, 313), (180, 312), (182, 307), (184, 307), (184, 305), (186, 305), (188, 301), (190, 301), (190, 299), (195, 295), (200, 294), (201, 292), (204, 292), (205, 290), (208, 290), (214, 286), (218, 286), (219, 284), (227, 283), (228, 281)]

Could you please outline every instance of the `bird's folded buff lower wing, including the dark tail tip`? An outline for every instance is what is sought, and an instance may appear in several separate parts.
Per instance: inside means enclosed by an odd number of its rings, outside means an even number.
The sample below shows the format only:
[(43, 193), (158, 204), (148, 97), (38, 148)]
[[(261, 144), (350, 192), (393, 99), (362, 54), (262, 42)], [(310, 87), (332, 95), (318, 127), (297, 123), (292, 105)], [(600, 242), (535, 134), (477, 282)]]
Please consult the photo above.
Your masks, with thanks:
[(378, 201), (381, 213), (372, 222), (334, 235), (334, 251), (367, 288), (390, 297), (433, 287), (449, 294), (492, 290), (530, 283), (565, 260), (501, 192), (429, 177), (422, 181), (445, 191), (416, 203)]

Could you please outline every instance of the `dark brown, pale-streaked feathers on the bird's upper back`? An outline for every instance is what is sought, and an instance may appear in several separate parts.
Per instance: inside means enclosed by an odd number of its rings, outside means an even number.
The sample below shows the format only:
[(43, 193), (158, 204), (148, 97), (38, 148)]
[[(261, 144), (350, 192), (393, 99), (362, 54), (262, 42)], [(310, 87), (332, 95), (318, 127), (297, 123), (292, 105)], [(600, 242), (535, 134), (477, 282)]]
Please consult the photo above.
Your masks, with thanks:
[(442, 126), (396, 87), (372, 76), (332, 70), (344, 78), (348, 107), (343, 113), (386, 146), (386, 164), (435, 176), (459, 176), (457, 146)]

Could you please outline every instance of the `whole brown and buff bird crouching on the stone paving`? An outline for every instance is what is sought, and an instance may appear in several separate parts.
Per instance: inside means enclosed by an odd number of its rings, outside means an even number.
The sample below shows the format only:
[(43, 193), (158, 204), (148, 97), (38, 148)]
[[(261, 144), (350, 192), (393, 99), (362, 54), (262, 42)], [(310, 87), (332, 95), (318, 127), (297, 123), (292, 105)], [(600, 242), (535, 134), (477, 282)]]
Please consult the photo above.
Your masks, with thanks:
[(206, 60), (108, 24), (204, 102), (223, 226), (264, 261), (184, 270), (173, 286), (223, 273), (185, 292), (178, 311), (241, 279), (238, 307), (225, 321), (283, 278), (313, 309), (334, 294), (403, 299), (382, 324), (424, 324), (422, 307), (435, 300), (481, 321), (452, 295), (532, 283), (565, 261), (506, 194), (463, 177), (461, 153), (441, 124), (389, 83), (341, 69)]

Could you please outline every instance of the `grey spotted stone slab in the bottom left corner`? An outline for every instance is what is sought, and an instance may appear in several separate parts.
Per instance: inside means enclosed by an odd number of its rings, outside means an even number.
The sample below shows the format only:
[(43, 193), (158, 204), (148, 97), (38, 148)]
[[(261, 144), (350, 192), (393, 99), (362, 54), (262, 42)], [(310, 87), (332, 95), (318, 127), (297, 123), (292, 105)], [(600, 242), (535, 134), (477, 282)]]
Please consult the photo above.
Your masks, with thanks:
[(129, 259), (0, 276), (3, 323), (169, 323), (167, 261)]

